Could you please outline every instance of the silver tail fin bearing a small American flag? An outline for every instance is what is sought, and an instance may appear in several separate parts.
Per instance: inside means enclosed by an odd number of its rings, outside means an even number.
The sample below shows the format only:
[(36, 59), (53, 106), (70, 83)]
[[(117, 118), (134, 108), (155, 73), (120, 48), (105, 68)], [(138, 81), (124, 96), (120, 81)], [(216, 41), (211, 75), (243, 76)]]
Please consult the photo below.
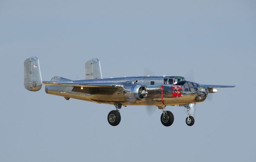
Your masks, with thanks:
[(30, 91), (38, 91), (42, 87), (42, 78), (37, 57), (30, 57), (24, 61), (24, 86)]

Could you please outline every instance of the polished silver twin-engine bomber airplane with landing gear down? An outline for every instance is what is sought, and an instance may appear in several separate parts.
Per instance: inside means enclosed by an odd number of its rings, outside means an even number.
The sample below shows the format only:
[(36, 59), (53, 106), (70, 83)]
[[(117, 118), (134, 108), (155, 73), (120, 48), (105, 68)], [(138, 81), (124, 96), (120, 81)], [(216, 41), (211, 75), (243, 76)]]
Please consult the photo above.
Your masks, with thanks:
[(37, 57), (24, 62), (24, 86), (27, 90), (38, 91), (45, 86), (47, 94), (97, 103), (114, 104), (116, 110), (108, 114), (111, 126), (121, 121), (119, 109), (130, 105), (153, 105), (162, 109), (161, 123), (168, 127), (174, 121), (172, 112), (166, 106), (187, 108), (186, 124), (192, 126), (194, 118), (190, 110), (196, 103), (203, 102), (208, 93), (216, 93), (215, 88), (235, 86), (200, 85), (186, 81), (181, 76), (135, 76), (102, 79), (100, 61), (91, 59), (85, 63), (85, 80), (69, 80), (55, 76), (51, 81), (43, 81)]

